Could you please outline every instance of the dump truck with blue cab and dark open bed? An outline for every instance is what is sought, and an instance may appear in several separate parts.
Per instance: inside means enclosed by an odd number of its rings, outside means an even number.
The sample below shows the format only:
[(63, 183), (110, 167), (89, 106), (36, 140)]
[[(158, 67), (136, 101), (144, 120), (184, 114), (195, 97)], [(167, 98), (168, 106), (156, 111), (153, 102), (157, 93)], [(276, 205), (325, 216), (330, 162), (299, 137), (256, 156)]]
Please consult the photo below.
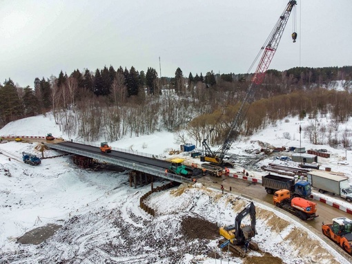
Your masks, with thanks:
[(262, 176), (262, 186), (265, 187), (268, 194), (274, 194), (275, 191), (286, 189), (291, 192), (291, 196), (293, 197), (308, 198), (311, 195), (311, 185), (309, 182), (305, 180), (297, 182), (293, 177), (273, 173)]

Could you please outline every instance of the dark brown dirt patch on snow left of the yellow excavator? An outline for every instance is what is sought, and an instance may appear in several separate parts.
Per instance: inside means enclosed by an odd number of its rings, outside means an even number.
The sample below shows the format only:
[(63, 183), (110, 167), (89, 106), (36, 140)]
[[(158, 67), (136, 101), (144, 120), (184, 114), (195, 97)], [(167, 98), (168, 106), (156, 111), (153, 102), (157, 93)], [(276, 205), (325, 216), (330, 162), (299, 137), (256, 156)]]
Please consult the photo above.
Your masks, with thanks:
[(200, 217), (187, 216), (182, 219), (182, 234), (189, 239), (215, 239), (219, 237), (219, 227)]

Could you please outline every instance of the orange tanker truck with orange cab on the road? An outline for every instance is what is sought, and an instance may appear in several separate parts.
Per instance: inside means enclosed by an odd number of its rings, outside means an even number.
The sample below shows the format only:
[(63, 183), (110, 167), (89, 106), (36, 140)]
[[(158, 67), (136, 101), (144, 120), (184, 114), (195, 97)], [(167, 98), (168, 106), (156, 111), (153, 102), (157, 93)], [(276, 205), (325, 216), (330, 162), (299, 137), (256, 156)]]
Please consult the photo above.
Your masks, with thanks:
[(292, 198), (290, 191), (286, 189), (275, 191), (273, 202), (277, 207), (289, 211), (302, 220), (312, 220), (319, 216), (315, 214), (317, 211), (315, 202), (298, 197)]

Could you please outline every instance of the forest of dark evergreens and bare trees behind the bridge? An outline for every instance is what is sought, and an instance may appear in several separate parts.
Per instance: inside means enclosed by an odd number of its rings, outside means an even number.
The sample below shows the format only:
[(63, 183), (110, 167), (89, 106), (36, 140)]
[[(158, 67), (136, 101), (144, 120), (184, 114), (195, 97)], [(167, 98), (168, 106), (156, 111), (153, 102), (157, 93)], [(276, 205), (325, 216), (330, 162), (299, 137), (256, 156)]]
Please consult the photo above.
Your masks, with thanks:
[[(0, 128), (52, 111), (70, 138), (116, 141), (166, 129), (177, 133), (180, 142), (188, 135), (197, 145), (207, 138), (214, 146), (224, 142), (250, 84), (251, 74), (211, 71), (185, 77), (177, 68), (175, 77), (159, 78), (154, 68), (144, 73), (121, 66), (37, 77), (34, 88), (6, 79), (0, 86)], [(343, 91), (333, 89), (341, 84)], [(352, 66), (268, 70), (238, 132), (251, 135), (284, 117), (308, 115), (312, 122), (302, 129), (312, 143), (349, 147), (351, 131), (337, 132), (351, 116), (351, 91)], [(328, 113), (331, 124), (320, 126), (319, 118)]]

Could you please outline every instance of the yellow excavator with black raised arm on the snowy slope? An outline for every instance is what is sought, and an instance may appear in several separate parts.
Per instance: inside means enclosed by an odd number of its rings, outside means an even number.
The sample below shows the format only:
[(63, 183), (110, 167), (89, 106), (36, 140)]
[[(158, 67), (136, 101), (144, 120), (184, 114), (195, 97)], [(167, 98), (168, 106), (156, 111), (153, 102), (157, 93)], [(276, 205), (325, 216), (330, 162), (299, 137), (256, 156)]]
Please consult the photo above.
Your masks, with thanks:
[[(241, 226), (242, 219), (248, 214), (251, 216), (251, 225)], [(253, 250), (259, 249), (257, 244), (251, 241), (251, 239), (257, 234), (257, 231), (255, 230), (255, 205), (253, 202), (237, 214), (234, 225), (220, 227), (219, 233), (226, 238), (226, 240), (230, 241), (228, 246), (231, 252), (234, 252), (241, 257), (246, 256), (248, 247)], [(226, 243), (226, 240), (221, 242)]]

